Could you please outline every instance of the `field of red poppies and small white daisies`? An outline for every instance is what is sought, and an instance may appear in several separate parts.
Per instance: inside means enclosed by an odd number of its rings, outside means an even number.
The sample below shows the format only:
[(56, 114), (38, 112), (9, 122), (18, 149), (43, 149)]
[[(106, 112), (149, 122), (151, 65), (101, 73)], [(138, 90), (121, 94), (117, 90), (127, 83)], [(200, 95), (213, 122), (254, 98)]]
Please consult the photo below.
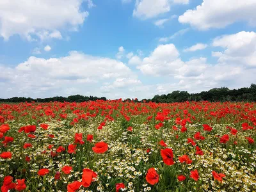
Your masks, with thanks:
[(256, 103), (0, 104), (1, 191), (256, 191)]

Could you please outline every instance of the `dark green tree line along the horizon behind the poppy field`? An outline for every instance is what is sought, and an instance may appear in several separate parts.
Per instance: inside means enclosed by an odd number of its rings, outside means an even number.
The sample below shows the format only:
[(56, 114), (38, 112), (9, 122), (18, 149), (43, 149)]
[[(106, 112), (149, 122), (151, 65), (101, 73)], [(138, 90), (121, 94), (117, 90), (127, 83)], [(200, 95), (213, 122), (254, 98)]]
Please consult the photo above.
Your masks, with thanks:
[[(68, 97), (49, 97), (45, 99), (32, 99), (26, 97), (12, 97), (10, 99), (0, 99), (0, 102), (84, 102), (95, 100), (107, 100), (106, 97), (87, 97), (83, 95), (71, 95)], [(131, 99), (126, 99), (131, 100)], [(203, 101), (225, 102), (225, 101), (247, 101), (256, 102), (256, 84), (253, 83), (249, 88), (239, 88), (230, 90), (227, 87), (212, 88), (206, 92), (188, 93), (185, 91), (174, 91), (172, 93), (155, 95), (152, 99), (135, 100), (136, 102), (184, 102), (184, 101)]]

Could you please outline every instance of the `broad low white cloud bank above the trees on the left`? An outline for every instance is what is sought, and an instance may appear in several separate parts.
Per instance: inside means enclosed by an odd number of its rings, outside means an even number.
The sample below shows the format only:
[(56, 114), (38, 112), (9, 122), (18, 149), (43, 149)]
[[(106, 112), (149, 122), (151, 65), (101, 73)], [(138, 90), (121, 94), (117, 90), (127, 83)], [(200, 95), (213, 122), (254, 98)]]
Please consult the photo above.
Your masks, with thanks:
[[(79, 94), (84, 94), (86, 90), (90, 95), (104, 96), (100, 90), (103, 83), (112, 82), (115, 89), (111, 93), (115, 93), (116, 88), (140, 84), (140, 80), (124, 63), (76, 51), (48, 60), (31, 56), (15, 68), (0, 65), (0, 77), (3, 90), (13, 88), (13, 91), (4, 92), (1, 97), (67, 96), (67, 89), (79, 90), (76, 92)], [(124, 89), (122, 93), (125, 92), (127, 90)]]

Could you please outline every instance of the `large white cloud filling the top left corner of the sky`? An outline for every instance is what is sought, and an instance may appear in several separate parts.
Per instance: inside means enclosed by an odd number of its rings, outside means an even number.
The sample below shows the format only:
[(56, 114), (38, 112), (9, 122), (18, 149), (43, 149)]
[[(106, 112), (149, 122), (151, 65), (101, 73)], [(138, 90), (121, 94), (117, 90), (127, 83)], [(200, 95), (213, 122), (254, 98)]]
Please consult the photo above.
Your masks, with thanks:
[(77, 30), (88, 17), (81, 0), (0, 1), (0, 36), (20, 35), (27, 40), (62, 38), (60, 30)]

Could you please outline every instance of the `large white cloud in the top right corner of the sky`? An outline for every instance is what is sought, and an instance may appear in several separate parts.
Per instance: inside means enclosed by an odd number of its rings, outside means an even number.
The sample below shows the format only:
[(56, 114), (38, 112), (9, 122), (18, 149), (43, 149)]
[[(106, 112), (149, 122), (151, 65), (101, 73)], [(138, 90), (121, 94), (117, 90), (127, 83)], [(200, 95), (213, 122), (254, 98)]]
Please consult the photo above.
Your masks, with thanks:
[(206, 30), (225, 28), (234, 22), (244, 21), (256, 25), (255, 0), (204, 0), (195, 10), (187, 10), (179, 17), (182, 24)]

